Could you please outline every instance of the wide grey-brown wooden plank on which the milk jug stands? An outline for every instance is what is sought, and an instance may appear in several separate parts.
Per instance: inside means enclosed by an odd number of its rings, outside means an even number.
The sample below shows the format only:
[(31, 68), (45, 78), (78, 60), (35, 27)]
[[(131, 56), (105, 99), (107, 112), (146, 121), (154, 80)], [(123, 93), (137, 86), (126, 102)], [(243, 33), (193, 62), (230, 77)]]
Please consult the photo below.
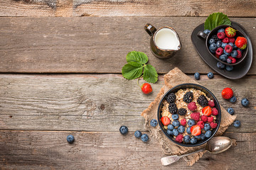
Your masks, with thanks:
[[(186, 73), (208, 73), (191, 42), (193, 28), (206, 18), (193, 17), (82, 17), (0, 18), (0, 72), (120, 73), (129, 51), (149, 56), (159, 73), (179, 67)], [(232, 18), (246, 28), (256, 45), (255, 18)], [(180, 35), (182, 50), (159, 60), (149, 49), (145, 23), (156, 28), (172, 26)], [(184, 25), (186, 23), (186, 26)], [(200, 68), (200, 69), (198, 69)], [(249, 74), (256, 74), (253, 62)]]

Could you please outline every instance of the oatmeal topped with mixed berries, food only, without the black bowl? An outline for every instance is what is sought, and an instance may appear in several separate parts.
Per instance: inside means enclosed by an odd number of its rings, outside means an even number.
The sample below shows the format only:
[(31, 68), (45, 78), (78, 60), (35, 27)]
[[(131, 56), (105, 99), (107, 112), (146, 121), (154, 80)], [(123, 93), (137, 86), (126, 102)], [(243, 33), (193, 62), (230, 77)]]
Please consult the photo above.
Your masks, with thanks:
[(180, 89), (166, 97), (161, 108), (161, 123), (176, 142), (196, 144), (217, 128), (218, 109), (203, 91)]

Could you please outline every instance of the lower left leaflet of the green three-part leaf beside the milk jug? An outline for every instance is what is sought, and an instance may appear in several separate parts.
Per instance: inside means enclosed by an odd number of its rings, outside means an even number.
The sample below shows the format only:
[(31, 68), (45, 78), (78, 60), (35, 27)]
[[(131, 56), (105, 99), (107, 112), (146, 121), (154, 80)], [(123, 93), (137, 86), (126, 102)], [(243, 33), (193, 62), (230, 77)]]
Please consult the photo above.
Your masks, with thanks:
[(143, 66), (138, 62), (129, 62), (122, 67), (122, 75), (125, 79), (137, 79), (142, 75)]

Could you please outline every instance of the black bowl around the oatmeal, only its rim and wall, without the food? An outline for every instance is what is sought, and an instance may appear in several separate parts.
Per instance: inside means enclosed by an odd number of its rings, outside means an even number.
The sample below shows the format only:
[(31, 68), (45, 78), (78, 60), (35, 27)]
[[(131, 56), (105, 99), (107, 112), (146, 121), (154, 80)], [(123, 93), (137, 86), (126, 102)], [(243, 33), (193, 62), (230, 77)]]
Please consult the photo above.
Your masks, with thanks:
[[(198, 89), (198, 90), (203, 91), (206, 94), (206, 96), (208, 96), (208, 98), (210, 98), (211, 100), (214, 101), (215, 108), (218, 109), (218, 115), (216, 116), (216, 120), (215, 120), (216, 123), (218, 124), (217, 128), (212, 130), (212, 135), (210, 137), (208, 137), (208, 138), (206, 137), (205, 140), (198, 140), (198, 142), (196, 142), (196, 144), (186, 144), (183, 142), (181, 142), (181, 143), (176, 142), (172, 135), (170, 136), (167, 134), (166, 130), (164, 129), (164, 125), (161, 123), (161, 108), (163, 106), (164, 101), (166, 100), (166, 96), (168, 96), (171, 93), (176, 93), (179, 89), (187, 89), (187, 88), (188, 89), (193, 88), (193, 89)], [(220, 127), (220, 120), (221, 120), (220, 104), (218, 103), (217, 98), (215, 98), (215, 96), (205, 87), (198, 85), (198, 84), (180, 84), (180, 85), (175, 86), (174, 88), (170, 89), (169, 91), (167, 91), (166, 94), (164, 94), (164, 96), (161, 98), (161, 101), (159, 103), (159, 108), (157, 111), (157, 118), (158, 118), (159, 126), (160, 126), (161, 130), (164, 132), (164, 135), (166, 135), (166, 137), (169, 138), (169, 140), (171, 140), (172, 142), (176, 143), (177, 145), (181, 145), (183, 147), (196, 147), (196, 146), (203, 145), (204, 143), (208, 142), (210, 140), (210, 138), (212, 138), (215, 135), (215, 133), (218, 131), (218, 128)]]

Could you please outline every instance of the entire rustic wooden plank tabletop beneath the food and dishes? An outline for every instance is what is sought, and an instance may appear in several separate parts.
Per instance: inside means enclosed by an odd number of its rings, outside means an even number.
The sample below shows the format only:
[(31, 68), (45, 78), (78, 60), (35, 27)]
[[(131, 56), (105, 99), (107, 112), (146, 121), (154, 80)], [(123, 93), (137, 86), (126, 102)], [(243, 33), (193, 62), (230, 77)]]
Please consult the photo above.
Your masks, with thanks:
[[(191, 42), (193, 28), (223, 11), (245, 27), (255, 48), (255, 8), (256, 1), (240, 0), (0, 0), (0, 169), (255, 169), (256, 62), (242, 79), (208, 79), (212, 70)], [(170, 60), (154, 57), (145, 23), (176, 29), (181, 52)], [(145, 52), (159, 72), (150, 95), (120, 73), (132, 50)], [(237, 147), (204, 154), (192, 167), (183, 160), (165, 167), (157, 140), (134, 137), (135, 130), (146, 132), (140, 114), (174, 67), (190, 77), (200, 72), (198, 83), (235, 109), (242, 125), (224, 135), (238, 140)], [(223, 100), (225, 87), (233, 88), (237, 103)], [(120, 125), (128, 126), (127, 136)]]

